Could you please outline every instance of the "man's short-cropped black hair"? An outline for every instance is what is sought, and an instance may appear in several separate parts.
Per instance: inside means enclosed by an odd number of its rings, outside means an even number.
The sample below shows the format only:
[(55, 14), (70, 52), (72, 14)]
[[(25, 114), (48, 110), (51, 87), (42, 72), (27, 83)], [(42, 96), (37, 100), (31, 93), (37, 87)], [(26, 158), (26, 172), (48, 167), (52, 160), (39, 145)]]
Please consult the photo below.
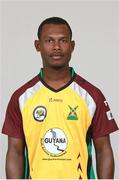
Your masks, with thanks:
[(72, 30), (71, 30), (69, 23), (65, 19), (62, 19), (60, 17), (50, 17), (50, 18), (45, 19), (38, 28), (38, 33), (37, 33), (38, 39), (40, 39), (40, 37), (41, 37), (42, 28), (45, 24), (65, 24), (65, 25), (67, 25), (69, 32), (70, 32), (70, 38), (72, 39)]

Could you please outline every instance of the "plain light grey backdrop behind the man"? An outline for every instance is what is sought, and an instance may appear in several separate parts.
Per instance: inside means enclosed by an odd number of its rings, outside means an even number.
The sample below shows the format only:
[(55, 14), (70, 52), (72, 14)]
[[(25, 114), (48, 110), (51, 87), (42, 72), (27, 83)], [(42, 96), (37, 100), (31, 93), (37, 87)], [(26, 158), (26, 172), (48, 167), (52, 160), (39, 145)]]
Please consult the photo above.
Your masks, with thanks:
[[(76, 42), (71, 66), (103, 91), (119, 125), (118, 1), (4, 0), (0, 3), (0, 127), (11, 94), (39, 72), (42, 63), (34, 40), (41, 21), (51, 16), (60, 16), (71, 25)], [(117, 132), (111, 135), (111, 143), (115, 178), (119, 178)], [(6, 149), (7, 137), (0, 134), (0, 178), (5, 178)]]

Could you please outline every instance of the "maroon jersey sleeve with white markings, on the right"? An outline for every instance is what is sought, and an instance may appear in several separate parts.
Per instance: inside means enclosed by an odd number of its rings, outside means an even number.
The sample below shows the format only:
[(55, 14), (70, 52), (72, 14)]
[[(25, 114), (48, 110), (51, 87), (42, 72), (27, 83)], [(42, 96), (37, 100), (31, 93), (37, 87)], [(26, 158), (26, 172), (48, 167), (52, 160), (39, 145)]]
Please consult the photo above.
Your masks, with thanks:
[(92, 121), (93, 138), (105, 136), (119, 129), (104, 95), (98, 91), (97, 97), (96, 111)]

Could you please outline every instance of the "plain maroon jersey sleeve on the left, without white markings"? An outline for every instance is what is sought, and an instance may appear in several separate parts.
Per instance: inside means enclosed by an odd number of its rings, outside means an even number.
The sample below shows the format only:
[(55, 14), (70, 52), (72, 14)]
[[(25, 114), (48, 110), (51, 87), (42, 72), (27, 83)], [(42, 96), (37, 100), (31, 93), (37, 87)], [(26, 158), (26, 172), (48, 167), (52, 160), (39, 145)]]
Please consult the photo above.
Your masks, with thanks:
[(15, 93), (12, 95), (7, 107), (2, 133), (10, 137), (24, 139), (22, 116), (19, 108), (18, 98)]

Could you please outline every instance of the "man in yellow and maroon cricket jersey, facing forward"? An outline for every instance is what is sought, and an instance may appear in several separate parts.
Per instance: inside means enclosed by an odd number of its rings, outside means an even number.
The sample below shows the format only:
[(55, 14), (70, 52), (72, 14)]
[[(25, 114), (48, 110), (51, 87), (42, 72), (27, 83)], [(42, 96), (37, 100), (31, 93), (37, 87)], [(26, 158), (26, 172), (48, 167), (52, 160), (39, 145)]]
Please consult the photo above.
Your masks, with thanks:
[(101, 91), (69, 67), (75, 43), (69, 24), (48, 18), (35, 47), (43, 68), (12, 95), (2, 132), (8, 135), (7, 178), (23, 178), (28, 149), (30, 178), (94, 179), (114, 177), (109, 134), (118, 130)]

